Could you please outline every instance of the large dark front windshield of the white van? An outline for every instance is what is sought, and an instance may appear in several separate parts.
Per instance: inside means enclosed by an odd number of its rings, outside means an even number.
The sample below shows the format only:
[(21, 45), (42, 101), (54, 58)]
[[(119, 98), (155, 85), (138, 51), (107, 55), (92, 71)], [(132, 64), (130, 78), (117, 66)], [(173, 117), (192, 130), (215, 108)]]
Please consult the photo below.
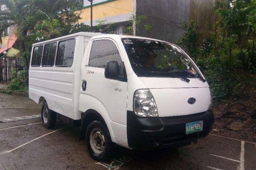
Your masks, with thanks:
[(191, 60), (175, 45), (161, 41), (122, 38), (137, 76), (200, 76)]

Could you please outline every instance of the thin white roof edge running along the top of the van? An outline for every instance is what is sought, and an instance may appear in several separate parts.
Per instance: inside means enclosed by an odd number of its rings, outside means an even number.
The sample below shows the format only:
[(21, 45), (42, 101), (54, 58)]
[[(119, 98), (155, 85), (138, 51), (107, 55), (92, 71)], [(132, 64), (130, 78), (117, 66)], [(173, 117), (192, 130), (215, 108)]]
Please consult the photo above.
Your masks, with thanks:
[[(153, 40), (153, 41), (162, 41), (162, 40), (159, 40), (159, 39), (138, 37), (138, 36), (132, 36), (132, 35), (117, 35), (117, 34), (102, 34), (102, 33), (92, 33), (92, 32), (79, 32), (79, 33), (70, 34), (70, 35), (66, 35), (66, 36), (63, 36), (63, 37), (59, 37), (59, 38), (50, 39), (50, 40), (43, 41), (43, 42), (40, 42), (40, 43), (35, 43), (32, 46), (37, 46), (37, 45), (40, 45), (40, 44), (50, 43), (50, 42), (53, 42), (53, 41), (60, 41), (62, 39), (72, 38), (72, 37), (76, 37), (76, 36), (80, 36), (80, 35), (86, 36), (86, 37), (88, 37), (88, 39), (91, 38), (91, 37), (95, 37), (95, 38), (139, 38), (139, 39), (148, 39), (148, 40)], [(165, 41), (162, 41), (162, 42), (165, 42)]]

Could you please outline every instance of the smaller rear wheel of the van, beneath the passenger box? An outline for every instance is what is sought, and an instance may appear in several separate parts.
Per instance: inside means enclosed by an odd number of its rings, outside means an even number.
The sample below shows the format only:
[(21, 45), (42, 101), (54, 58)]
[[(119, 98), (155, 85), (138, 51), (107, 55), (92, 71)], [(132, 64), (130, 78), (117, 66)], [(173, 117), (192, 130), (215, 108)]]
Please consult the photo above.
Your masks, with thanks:
[(44, 127), (48, 129), (53, 128), (56, 124), (57, 114), (54, 111), (49, 109), (47, 102), (43, 103), (42, 110), (41, 110), (41, 118), (42, 118)]

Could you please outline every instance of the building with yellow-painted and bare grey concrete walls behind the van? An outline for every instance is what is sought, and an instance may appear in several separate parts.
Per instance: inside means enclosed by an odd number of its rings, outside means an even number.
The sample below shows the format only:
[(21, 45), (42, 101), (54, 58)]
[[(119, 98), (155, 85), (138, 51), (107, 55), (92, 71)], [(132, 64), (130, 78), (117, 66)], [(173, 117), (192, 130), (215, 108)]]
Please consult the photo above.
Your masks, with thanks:
[[(125, 34), (130, 17), (145, 15), (137, 26), (137, 36), (162, 39), (174, 43), (184, 33), (182, 24), (190, 20), (198, 22), (207, 35), (215, 21), (212, 8), (216, 0), (94, 0), (93, 26), (97, 30), (98, 21), (114, 22), (111, 34)], [(84, 0), (81, 13), (84, 22), (90, 25), (90, 2)], [(145, 25), (151, 26), (146, 30)], [(136, 26), (135, 26), (136, 27)]]

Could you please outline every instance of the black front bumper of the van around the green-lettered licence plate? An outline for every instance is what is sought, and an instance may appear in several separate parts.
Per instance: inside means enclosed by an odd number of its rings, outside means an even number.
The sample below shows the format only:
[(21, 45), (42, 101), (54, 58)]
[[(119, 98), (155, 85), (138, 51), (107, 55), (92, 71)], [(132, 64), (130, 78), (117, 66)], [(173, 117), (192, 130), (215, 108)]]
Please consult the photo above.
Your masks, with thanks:
[[(185, 123), (203, 120), (203, 131), (185, 134)], [(127, 138), (132, 149), (179, 147), (209, 134), (214, 122), (212, 110), (172, 117), (138, 117), (127, 111)]]

